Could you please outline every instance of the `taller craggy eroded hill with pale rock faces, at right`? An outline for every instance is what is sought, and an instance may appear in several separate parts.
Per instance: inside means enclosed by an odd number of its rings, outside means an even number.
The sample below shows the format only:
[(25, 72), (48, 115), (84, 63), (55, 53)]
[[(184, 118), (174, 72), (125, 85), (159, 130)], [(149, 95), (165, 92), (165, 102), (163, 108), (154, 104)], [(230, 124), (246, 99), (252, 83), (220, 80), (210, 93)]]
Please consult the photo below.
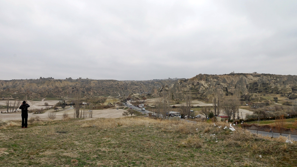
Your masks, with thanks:
[(197, 97), (209, 97), (214, 93), (233, 94), (236, 90), (241, 94), (251, 93), (275, 93), (290, 96), (297, 88), (296, 75), (273, 74), (227, 74), (208, 75), (199, 74), (193, 78), (179, 80), (172, 86), (174, 99), (182, 99), (180, 96), (190, 88), (192, 94)]

